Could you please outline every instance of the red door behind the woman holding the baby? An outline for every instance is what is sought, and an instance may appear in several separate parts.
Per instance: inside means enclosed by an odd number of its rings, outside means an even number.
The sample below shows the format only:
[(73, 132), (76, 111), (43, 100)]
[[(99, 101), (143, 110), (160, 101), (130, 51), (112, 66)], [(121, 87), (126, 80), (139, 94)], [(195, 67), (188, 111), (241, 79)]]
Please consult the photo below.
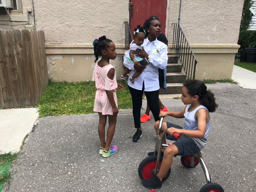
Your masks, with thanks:
[(137, 25), (143, 26), (146, 19), (156, 15), (162, 25), (161, 32), (165, 34), (167, 0), (130, 0), (130, 28), (133, 34)]

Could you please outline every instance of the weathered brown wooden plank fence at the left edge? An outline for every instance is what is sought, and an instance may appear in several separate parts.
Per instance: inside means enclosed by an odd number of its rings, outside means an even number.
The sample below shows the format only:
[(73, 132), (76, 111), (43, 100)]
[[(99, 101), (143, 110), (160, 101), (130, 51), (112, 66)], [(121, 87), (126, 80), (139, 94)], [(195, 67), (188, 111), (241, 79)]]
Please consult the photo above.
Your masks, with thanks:
[(44, 31), (0, 30), (0, 108), (36, 105), (47, 83)]

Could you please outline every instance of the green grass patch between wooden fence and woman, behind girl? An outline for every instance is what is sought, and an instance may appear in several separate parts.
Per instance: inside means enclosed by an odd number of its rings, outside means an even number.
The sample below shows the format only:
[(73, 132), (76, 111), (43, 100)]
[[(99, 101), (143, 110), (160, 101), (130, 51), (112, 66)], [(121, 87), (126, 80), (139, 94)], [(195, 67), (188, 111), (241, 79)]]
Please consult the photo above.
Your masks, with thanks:
[[(118, 83), (124, 86), (123, 91), (116, 91), (118, 108), (132, 108), (132, 97), (127, 83), (125, 81)], [(94, 113), (95, 93), (93, 81), (73, 83), (49, 81), (36, 107), (39, 107), (40, 117)]]

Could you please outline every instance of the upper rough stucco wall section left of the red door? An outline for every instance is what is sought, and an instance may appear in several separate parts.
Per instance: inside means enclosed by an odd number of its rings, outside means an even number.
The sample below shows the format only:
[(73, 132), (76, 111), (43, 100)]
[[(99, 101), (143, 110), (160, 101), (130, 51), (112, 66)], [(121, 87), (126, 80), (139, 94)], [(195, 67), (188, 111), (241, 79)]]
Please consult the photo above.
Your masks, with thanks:
[(128, 1), (35, 1), (36, 29), (44, 30), (45, 43), (92, 43), (106, 35), (124, 43)]

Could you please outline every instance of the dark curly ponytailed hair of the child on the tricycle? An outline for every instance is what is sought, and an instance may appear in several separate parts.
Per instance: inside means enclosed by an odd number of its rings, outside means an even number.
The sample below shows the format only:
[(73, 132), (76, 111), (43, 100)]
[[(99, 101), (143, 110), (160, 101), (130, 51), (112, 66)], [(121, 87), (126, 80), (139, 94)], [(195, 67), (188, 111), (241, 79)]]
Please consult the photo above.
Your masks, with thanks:
[(183, 86), (187, 88), (189, 95), (198, 95), (202, 105), (204, 105), (209, 112), (214, 112), (218, 107), (218, 104), (215, 103), (214, 94), (207, 90), (206, 85), (202, 81), (187, 80)]

